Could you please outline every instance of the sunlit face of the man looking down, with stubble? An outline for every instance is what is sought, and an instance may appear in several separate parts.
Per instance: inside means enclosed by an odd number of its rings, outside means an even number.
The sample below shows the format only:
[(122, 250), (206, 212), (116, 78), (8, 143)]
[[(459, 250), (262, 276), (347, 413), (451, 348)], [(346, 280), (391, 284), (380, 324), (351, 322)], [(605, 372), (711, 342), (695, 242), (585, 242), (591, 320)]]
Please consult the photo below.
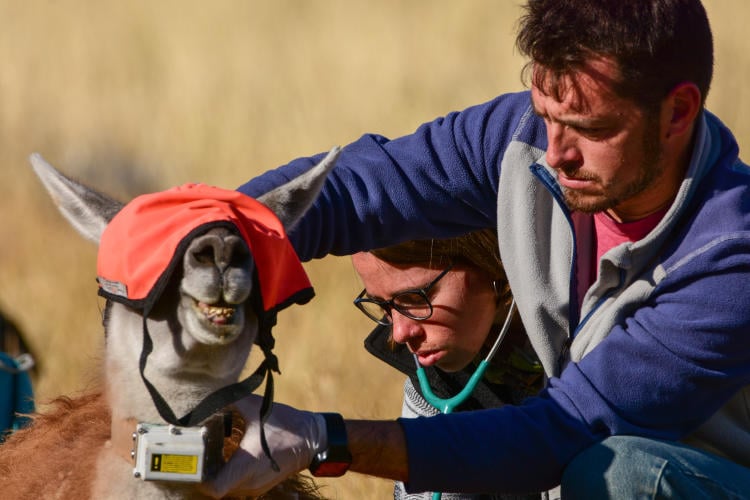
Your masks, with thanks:
[(646, 113), (612, 90), (616, 65), (597, 59), (559, 83), (560, 100), (536, 86), (535, 112), (547, 126), (547, 163), (557, 170), (571, 210), (608, 211), (635, 220), (671, 200), (664, 173), (659, 113)]

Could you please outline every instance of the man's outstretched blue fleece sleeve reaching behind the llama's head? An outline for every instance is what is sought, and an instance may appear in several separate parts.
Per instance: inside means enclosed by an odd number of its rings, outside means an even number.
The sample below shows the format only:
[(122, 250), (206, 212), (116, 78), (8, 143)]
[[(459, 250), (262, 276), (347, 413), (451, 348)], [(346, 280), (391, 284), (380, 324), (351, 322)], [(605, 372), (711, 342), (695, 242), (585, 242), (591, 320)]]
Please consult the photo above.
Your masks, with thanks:
[[(345, 146), (289, 232), (297, 254), (307, 261), (495, 227), (500, 164), (529, 106), (528, 93), (508, 94), (397, 139), (368, 134)], [(298, 158), (238, 189), (257, 197), (321, 158)]]

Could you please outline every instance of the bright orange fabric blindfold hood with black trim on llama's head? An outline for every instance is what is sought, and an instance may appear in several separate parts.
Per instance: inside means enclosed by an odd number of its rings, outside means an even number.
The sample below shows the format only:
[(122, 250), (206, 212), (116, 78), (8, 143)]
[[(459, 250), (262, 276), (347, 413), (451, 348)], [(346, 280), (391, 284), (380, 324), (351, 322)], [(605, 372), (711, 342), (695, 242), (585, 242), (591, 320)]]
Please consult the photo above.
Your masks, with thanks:
[(265, 312), (312, 299), (312, 285), (276, 215), (242, 193), (204, 184), (142, 195), (125, 205), (99, 243), (99, 294), (150, 309), (192, 236), (226, 224), (250, 248)]

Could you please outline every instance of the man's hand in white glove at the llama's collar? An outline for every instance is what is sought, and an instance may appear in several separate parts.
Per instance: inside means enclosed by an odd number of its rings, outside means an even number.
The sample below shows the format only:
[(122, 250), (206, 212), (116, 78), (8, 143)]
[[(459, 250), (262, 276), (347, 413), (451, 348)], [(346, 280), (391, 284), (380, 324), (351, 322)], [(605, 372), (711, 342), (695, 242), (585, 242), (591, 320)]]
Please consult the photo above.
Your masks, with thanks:
[(327, 446), (325, 420), (320, 414), (274, 403), (265, 423), (271, 456), (280, 467), (276, 472), (260, 444), (258, 418), (263, 398), (255, 394), (235, 403), (235, 409), (247, 422), (239, 449), (218, 472), (202, 485), (202, 490), (221, 498), (232, 495), (258, 496), (303, 469)]

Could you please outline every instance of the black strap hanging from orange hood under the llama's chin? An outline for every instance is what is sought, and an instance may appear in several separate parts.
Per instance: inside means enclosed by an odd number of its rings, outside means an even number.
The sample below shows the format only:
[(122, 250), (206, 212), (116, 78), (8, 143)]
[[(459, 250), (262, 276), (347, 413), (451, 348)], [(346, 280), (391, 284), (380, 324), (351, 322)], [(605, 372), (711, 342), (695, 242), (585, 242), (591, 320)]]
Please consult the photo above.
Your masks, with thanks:
[[(146, 385), (146, 388), (151, 395), (151, 400), (154, 402), (154, 406), (159, 412), (161, 418), (163, 418), (169, 424), (180, 427), (196, 426), (219, 410), (222, 410), (226, 406), (239, 401), (248, 394), (251, 394), (260, 386), (261, 382), (263, 382), (263, 378), (265, 377), (267, 380), (265, 390), (263, 391), (263, 401), (260, 407), (260, 443), (263, 447), (263, 452), (271, 461), (271, 467), (273, 467), (273, 469), (278, 472), (280, 470), (279, 466), (271, 456), (271, 451), (266, 440), (265, 422), (271, 414), (271, 406), (273, 404), (273, 372), (281, 372), (279, 371), (278, 358), (275, 354), (273, 354), (273, 352), (271, 352), (271, 349), (267, 347), (266, 343), (264, 342), (263, 345), (261, 345), (264, 359), (252, 375), (242, 380), (241, 382), (230, 384), (212, 392), (211, 394), (206, 396), (200, 403), (198, 403), (198, 405), (196, 405), (195, 408), (193, 408), (191, 411), (189, 411), (182, 417), (177, 418), (177, 416), (174, 414), (174, 411), (172, 411), (172, 408), (170, 408), (169, 404), (164, 400), (156, 387), (154, 387), (154, 385), (146, 378), (146, 360), (148, 359), (149, 354), (151, 354), (151, 351), (153, 351), (154, 348), (153, 341), (151, 340), (151, 335), (148, 332), (147, 318), (148, 313), (147, 311), (144, 311), (143, 349), (141, 350), (141, 357), (138, 363), (138, 367), (141, 373), (141, 379)], [(265, 334), (270, 336), (270, 331), (260, 332), (260, 335), (262, 336)]]

